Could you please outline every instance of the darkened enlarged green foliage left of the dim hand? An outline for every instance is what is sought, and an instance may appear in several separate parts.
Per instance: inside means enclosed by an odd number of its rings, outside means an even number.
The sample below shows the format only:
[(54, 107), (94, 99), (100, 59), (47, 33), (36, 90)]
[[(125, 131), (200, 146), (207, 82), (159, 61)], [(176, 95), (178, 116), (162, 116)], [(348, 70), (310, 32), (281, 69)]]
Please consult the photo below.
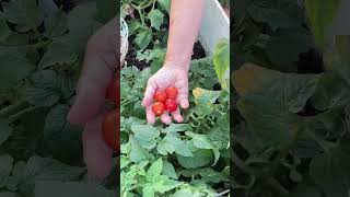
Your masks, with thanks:
[(82, 128), (67, 113), (88, 38), (117, 4), (58, 7), (44, 14), (42, 1), (0, 3), (1, 197), (115, 196), (115, 174), (102, 183), (86, 178)]

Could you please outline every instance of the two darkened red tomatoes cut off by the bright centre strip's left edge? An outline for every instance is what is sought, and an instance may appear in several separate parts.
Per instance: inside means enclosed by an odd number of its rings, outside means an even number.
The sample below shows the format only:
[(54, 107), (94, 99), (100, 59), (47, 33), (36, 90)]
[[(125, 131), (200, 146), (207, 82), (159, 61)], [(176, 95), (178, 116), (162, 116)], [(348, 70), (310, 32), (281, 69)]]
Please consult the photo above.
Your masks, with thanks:
[[(119, 92), (119, 80), (113, 79), (108, 85), (106, 92), (106, 99), (112, 100), (116, 106), (118, 106), (120, 101), (120, 92)], [(108, 112), (104, 118), (102, 130), (103, 130), (103, 139), (114, 151), (119, 152), (119, 126), (120, 126), (120, 112), (119, 108), (114, 108)]]

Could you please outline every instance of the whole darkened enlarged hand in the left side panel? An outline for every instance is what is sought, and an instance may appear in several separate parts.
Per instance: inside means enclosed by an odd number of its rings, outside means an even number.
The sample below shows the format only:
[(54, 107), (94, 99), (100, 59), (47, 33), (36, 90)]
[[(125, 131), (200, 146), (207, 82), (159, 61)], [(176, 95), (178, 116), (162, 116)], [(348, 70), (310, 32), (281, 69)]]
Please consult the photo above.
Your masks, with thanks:
[(103, 140), (102, 123), (106, 90), (114, 70), (119, 67), (117, 30), (117, 19), (114, 19), (88, 42), (75, 102), (68, 115), (71, 124), (84, 126), (83, 155), (88, 174), (98, 179), (109, 174), (113, 163), (113, 150)]

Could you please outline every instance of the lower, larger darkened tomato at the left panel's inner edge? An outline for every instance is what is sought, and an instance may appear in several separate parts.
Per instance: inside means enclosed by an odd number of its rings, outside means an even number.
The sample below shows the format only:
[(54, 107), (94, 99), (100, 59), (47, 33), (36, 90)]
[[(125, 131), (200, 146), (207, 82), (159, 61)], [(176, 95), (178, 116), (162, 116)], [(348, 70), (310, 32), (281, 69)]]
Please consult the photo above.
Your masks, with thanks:
[(102, 125), (103, 139), (114, 151), (119, 152), (119, 111), (114, 109), (106, 114), (105, 119)]

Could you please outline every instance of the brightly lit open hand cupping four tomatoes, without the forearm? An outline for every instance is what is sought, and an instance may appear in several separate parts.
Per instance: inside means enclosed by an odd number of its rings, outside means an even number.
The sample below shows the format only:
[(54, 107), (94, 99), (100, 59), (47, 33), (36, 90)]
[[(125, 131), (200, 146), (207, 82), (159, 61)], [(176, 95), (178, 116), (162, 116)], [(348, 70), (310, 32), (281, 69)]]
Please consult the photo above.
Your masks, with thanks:
[[(142, 105), (145, 107), (148, 123), (154, 124), (155, 115), (152, 112), (153, 95), (156, 91), (164, 91), (168, 86), (178, 89), (176, 102), (182, 108), (188, 108), (188, 66), (177, 67), (173, 63), (164, 63), (164, 66), (154, 73), (147, 83), (144, 99)], [(182, 123), (184, 120), (179, 107), (171, 113), (174, 120)], [(164, 124), (171, 124), (172, 118), (167, 112), (160, 116)]]

